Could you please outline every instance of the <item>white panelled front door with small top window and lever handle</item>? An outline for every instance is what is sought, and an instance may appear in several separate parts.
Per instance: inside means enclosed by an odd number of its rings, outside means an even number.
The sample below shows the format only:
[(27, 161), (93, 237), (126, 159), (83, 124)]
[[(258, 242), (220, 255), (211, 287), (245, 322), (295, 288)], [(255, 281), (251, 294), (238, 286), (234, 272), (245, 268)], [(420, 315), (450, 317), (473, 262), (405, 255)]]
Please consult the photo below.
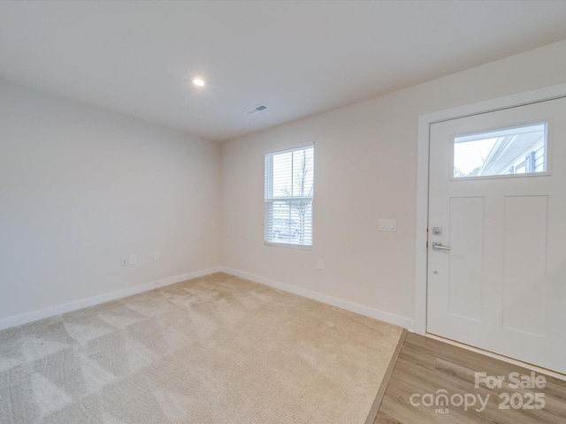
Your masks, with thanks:
[(566, 98), (430, 130), (427, 332), (566, 374)]

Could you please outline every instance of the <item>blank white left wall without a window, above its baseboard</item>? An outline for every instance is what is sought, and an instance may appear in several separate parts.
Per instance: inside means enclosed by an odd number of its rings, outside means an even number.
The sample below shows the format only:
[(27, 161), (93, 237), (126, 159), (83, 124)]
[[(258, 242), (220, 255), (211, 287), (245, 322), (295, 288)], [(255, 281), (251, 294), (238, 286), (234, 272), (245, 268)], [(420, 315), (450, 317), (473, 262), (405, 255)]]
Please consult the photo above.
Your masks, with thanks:
[(0, 82), (0, 322), (220, 265), (220, 175), (216, 143)]

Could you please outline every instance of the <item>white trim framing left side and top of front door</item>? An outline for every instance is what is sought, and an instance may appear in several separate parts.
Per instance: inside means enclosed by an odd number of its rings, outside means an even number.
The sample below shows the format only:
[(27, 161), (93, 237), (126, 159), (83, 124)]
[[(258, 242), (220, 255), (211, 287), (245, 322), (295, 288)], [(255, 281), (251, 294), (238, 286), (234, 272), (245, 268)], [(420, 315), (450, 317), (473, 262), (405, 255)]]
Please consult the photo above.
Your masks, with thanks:
[(476, 102), (455, 108), (427, 113), (418, 117), (417, 135), (417, 222), (416, 222), (416, 264), (415, 264), (415, 332), (426, 334), (426, 292), (427, 292), (427, 226), (429, 191), (429, 147), (430, 126), (437, 122), (470, 117), (479, 113), (509, 109), (525, 104), (544, 102), (566, 97), (566, 83), (537, 88), (516, 95)]

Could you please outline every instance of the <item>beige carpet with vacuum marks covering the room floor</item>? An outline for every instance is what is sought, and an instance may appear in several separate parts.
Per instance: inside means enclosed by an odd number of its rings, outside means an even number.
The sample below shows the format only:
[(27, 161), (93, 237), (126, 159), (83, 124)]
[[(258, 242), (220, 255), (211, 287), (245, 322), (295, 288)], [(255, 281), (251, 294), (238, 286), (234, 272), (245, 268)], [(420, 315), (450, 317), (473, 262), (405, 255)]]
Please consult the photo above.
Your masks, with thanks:
[(401, 335), (204, 276), (0, 331), (0, 423), (362, 424)]

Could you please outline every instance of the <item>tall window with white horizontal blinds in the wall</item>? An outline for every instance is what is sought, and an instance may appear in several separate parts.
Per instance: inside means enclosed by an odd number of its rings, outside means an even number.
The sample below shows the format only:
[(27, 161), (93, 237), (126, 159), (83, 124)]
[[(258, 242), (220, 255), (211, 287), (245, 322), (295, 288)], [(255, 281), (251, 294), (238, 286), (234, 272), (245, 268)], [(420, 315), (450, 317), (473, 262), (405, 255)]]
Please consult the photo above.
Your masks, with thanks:
[(267, 244), (312, 246), (314, 147), (265, 155)]

